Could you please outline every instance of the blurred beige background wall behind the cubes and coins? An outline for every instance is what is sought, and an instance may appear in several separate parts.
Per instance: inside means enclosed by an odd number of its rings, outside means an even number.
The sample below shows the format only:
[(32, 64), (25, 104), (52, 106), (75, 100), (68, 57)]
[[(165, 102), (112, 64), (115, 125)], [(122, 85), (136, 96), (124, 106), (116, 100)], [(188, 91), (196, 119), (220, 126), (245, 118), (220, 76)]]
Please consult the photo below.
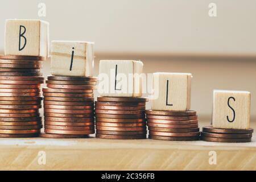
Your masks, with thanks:
[[(38, 16), (39, 3), (46, 17)], [(190, 72), (192, 109), (201, 119), (210, 122), (213, 89), (251, 92), (256, 118), (256, 1), (9, 0), (0, 17), (1, 53), (5, 19), (47, 20), (51, 40), (95, 42), (95, 75), (100, 59), (142, 60), (146, 73)], [(43, 72), (49, 74), (49, 60)]]

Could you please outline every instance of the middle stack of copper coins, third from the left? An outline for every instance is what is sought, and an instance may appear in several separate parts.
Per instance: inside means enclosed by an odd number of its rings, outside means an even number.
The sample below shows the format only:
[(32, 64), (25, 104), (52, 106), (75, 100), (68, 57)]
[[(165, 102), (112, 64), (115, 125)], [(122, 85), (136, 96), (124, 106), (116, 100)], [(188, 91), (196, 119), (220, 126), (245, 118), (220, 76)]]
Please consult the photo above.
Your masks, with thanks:
[(144, 139), (147, 135), (147, 98), (98, 97), (95, 103), (96, 137), (104, 139)]

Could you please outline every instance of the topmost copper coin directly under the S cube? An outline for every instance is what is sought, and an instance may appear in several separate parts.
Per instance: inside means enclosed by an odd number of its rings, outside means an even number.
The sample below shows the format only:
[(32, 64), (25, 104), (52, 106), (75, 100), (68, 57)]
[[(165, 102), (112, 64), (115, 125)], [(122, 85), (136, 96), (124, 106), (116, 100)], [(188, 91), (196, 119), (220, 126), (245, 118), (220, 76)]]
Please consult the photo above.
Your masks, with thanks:
[(253, 129), (214, 129), (212, 126), (203, 127), (203, 131), (207, 133), (223, 133), (223, 134), (253, 133)]

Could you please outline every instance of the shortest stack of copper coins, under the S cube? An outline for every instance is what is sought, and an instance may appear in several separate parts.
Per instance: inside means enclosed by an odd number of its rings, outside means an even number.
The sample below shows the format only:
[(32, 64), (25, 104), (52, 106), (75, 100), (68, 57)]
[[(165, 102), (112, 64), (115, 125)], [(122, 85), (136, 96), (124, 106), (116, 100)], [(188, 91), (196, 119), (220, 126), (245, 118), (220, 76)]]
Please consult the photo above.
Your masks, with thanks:
[(203, 127), (201, 140), (208, 142), (251, 142), (253, 129), (215, 129)]

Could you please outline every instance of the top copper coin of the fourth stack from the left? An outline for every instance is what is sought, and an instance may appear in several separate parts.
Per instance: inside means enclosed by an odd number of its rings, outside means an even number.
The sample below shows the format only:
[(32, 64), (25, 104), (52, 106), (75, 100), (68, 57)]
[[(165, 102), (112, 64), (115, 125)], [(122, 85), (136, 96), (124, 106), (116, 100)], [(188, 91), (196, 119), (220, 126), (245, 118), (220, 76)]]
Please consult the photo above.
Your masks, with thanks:
[(170, 116), (191, 116), (196, 115), (196, 111), (164, 111), (164, 110), (146, 110), (146, 114), (151, 115), (170, 115)]

